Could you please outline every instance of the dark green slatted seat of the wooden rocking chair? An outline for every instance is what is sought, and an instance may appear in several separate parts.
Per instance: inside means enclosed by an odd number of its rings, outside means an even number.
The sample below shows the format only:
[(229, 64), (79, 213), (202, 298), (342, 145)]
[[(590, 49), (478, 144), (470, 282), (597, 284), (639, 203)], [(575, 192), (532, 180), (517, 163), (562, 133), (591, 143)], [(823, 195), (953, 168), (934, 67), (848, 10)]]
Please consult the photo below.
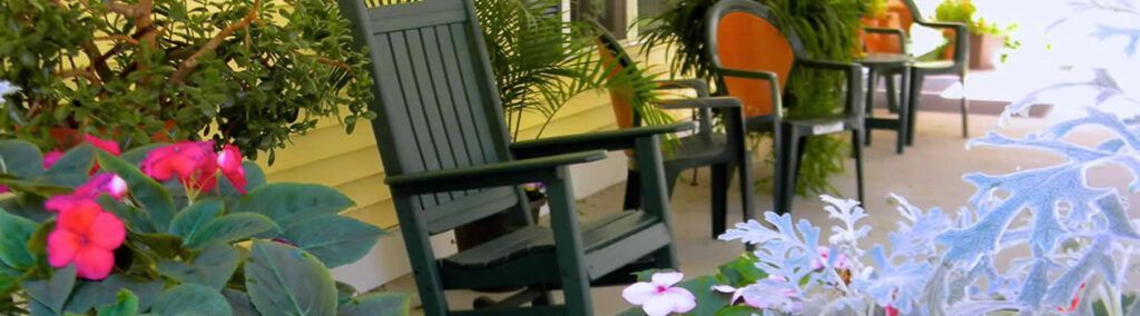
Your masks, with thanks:
[[(612, 262), (629, 262), (614, 260), (613, 256), (636, 260), (667, 245), (668, 236), (660, 218), (643, 211), (616, 212), (585, 222), (581, 242), (589, 278), (597, 279), (621, 268)], [(535, 225), (439, 262), (448, 289), (554, 286), (560, 279), (555, 250), (551, 228)]]

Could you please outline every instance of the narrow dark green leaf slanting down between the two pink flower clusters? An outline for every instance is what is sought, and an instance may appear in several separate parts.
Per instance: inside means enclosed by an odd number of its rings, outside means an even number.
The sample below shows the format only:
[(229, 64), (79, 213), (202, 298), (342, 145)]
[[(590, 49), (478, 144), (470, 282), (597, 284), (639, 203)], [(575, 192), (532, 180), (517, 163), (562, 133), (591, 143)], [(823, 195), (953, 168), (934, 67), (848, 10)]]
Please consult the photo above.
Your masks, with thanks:
[(170, 227), (170, 221), (174, 217), (174, 198), (162, 188), (162, 185), (116, 156), (103, 152), (96, 155), (104, 170), (114, 172), (127, 181), (131, 196), (142, 204), (155, 227)]

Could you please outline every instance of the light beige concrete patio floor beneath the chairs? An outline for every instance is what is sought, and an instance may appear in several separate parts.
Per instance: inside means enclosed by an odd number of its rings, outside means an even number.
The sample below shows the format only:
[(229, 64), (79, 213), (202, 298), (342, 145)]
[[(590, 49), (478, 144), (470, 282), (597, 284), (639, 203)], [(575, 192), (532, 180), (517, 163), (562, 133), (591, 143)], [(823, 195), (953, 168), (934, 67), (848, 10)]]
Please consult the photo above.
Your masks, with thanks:
[[(997, 116), (993, 115), (971, 115), (970, 136), (985, 135), (995, 127), (996, 119)], [(1048, 125), (1050, 119), (1057, 118), (1015, 118), (1001, 132), (1007, 136), (1023, 136)], [(1104, 135), (1098, 131), (1078, 131), (1072, 139), (1091, 144), (1102, 138)], [(961, 180), (962, 175), (967, 172), (1008, 173), (1018, 169), (1045, 167), (1061, 162), (1059, 157), (1041, 152), (1004, 148), (968, 149), (964, 146), (966, 139), (961, 136), (960, 116), (951, 113), (920, 112), (914, 146), (907, 147), (903, 155), (897, 155), (894, 152), (894, 131), (877, 130), (873, 132), (873, 146), (864, 147), (868, 198), (865, 204), (871, 217), (864, 219), (863, 222), (873, 227), (865, 245), (886, 243), (887, 233), (895, 229), (898, 217), (895, 209), (888, 204), (889, 193), (904, 196), (920, 208), (940, 206), (944, 210), (954, 211), (966, 205), (966, 201), (975, 192), (971, 185)], [(762, 161), (762, 157), (767, 153), (764, 148), (758, 151), (756, 161)], [(832, 179), (832, 184), (844, 197), (854, 198), (855, 196), (853, 164), (853, 161), (848, 162), (848, 175)], [(757, 164), (756, 176), (767, 177), (772, 172), (769, 168)], [(681, 256), (681, 270), (689, 276), (714, 272), (717, 266), (743, 251), (743, 246), (739, 243), (710, 238), (709, 177), (707, 171), (707, 169), (701, 170), (695, 186), (689, 185), (687, 180), (692, 173), (685, 172), (682, 183), (677, 185), (671, 203), (673, 222)], [(1098, 186), (1126, 187), (1131, 176), (1121, 171), (1114, 167), (1096, 169), (1092, 172), (1094, 179), (1092, 183)], [(732, 191), (732, 193), (730, 195), (728, 219), (730, 222), (736, 222), (741, 220), (739, 196), (735, 195), (736, 191)], [(622, 194), (624, 187), (616, 185), (584, 198), (580, 202), (584, 220), (619, 210)], [(1126, 194), (1126, 196), (1132, 200), (1137, 198), (1134, 194)], [(772, 208), (769, 191), (757, 192), (756, 200), (760, 211)], [(815, 197), (798, 197), (795, 201), (792, 216), (796, 220), (806, 218), (816, 226), (829, 227), (832, 222), (828, 220), (822, 205)], [(1132, 210), (1132, 212), (1137, 211)], [(823, 234), (826, 235), (829, 230), (823, 229)], [(1130, 278), (1134, 278), (1134, 276)], [(381, 290), (415, 292), (415, 286), (412, 277), (405, 276)], [(613, 315), (629, 308), (630, 306), (621, 299), (620, 291), (620, 286), (595, 287), (592, 294), (596, 314)], [(477, 295), (472, 292), (454, 291), (449, 292), (448, 300), (453, 308), (466, 309), (471, 307), (471, 301)], [(555, 300), (561, 300), (559, 293), (554, 297)]]

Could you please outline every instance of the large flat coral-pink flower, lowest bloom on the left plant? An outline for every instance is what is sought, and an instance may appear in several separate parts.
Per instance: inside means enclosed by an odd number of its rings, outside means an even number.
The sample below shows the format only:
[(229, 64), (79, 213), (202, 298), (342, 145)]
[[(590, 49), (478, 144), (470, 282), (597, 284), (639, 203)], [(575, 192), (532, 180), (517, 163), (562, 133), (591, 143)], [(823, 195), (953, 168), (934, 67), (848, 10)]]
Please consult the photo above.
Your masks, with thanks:
[(115, 266), (114, 250), (127, 238), (127, 228), (91, 200), (78, 201), (59, 212), (48, 235), (48, 264), (60, 268), (74, 264), (87, 279), (104, 279)]

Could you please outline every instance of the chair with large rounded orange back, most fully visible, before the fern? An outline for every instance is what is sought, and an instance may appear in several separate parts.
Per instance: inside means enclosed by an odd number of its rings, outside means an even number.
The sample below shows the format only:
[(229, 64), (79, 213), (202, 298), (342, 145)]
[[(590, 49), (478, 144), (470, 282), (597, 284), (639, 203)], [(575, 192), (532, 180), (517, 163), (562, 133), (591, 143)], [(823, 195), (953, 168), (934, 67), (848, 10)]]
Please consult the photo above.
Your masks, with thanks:
[[(707, 16), (707, 46), (717, 92), (743, 102), (749, 131), (773, 132), (776, 151), (775, 211), (790, 212), (804, 147), (814, 136), (852, 132), (858, 200), (863, 201), (863, 73), (852, 63), (812, 60), (791, 30), (783, 32), (775, 15), (752, 0), (720, 0)], [(788, 35), (784, 35), (788, 34)], [(833, 118), (783, 118), (780, 87), (793, 67), (842, 72), (847, 84), (844, 112)], [(820, 89), (829, 89), (820, 87)]]

